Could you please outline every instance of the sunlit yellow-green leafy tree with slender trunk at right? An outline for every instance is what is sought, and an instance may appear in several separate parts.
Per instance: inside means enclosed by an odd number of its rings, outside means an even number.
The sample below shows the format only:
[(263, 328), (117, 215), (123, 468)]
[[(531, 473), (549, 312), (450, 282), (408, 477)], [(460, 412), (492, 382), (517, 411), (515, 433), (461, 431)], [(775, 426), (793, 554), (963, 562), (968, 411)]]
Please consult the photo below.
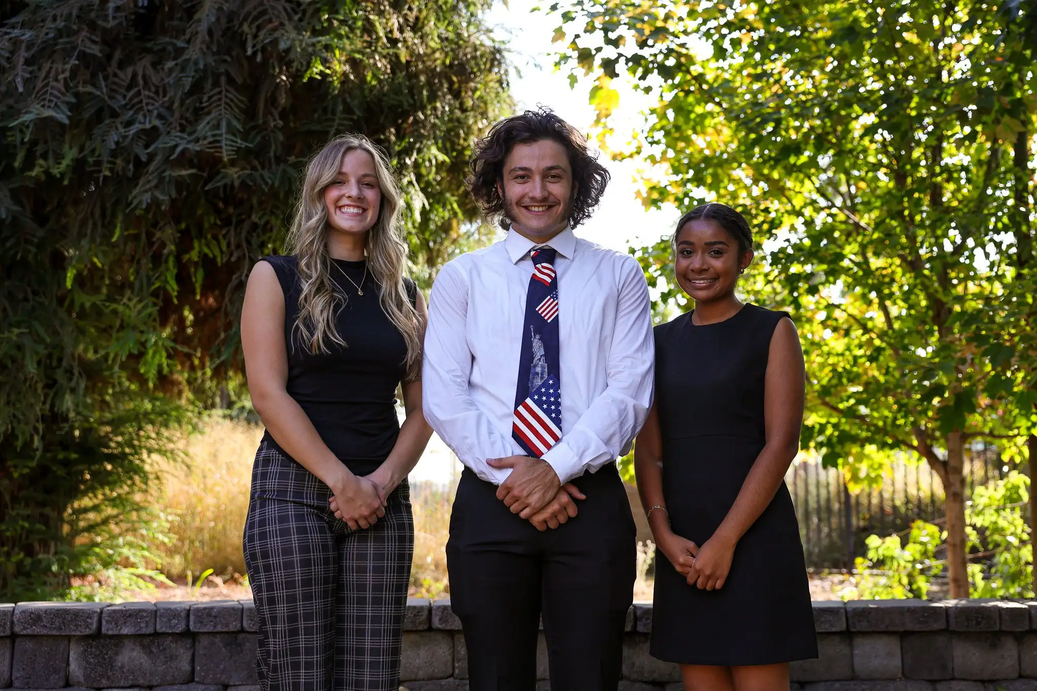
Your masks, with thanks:
[[(564, 19), (605, 122), (620, 70), (658, 97), (637, 133), (664, 171), (648, 202), (750, 218), (804, 340), (806, 442), (859, 479), (903, 450), (938, 473), (966, 596), (969, 442), (1018, 453), (1035, 422), (1037, 3), (578, 0)], [(665, 244), (640, 256), (668, 269)]]

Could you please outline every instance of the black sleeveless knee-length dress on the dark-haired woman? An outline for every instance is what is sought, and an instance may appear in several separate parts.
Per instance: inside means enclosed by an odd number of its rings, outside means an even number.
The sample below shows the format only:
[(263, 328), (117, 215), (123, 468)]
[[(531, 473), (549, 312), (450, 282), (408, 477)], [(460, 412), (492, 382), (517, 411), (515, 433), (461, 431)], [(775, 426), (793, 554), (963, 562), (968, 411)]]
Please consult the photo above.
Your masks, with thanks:
[[(764, 445), (770, 337), (788, 315), (746, 305), (697, 326), (655, 327), (663, 493), (673, 531), (697, 545), (720, 526)], [(651, 654), (669, 662), (758, 665), (817, 657), (803, 545), (788, 488), (738, 542), (719, 591), (689, 585), (655, 553)]]

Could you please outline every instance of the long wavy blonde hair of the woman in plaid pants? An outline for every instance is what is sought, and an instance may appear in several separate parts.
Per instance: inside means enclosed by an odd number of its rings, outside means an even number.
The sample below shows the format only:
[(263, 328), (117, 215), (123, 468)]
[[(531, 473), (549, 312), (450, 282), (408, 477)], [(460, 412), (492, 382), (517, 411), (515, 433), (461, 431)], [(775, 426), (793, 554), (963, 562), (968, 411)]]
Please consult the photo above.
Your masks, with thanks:
[(399, 329), (407, 342), (408, 380), (416, 379), (421, 367), (421, 338), (424, 324), (407, 293), (403, 267), (407, 263), (407, 242), (399, 226), (402, 196), (393, 177), (392, 166), (385, 151), (363, 135), (342, 135), (332, 139), (309, 163), (299, 192), (299, 201), (285, 239), (285, 254), (299, 258), (299, 316), (293, 329), (311, 353), (328, 353), (334, 343), (346, 347), (335, 328), (335, 317), (345, 305), (345, 296), (335, 290), (331, 279), (331, 256), (328, 254), (328, 208), (325, 188), (332, 183), (342, 165), (342, 157), (354, 149), (371, 154), (382, 190), (379, 218), (367, 231), (364, 250), (367, 270), (374, 277), (382, 309), (389, 321)]

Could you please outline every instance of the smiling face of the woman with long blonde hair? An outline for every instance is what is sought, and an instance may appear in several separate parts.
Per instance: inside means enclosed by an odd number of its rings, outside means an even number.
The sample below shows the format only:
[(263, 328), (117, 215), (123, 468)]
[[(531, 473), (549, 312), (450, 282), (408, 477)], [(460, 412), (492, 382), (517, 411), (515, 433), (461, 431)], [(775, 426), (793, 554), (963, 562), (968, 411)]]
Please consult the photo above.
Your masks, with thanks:
[(330, 230), (348, 235), (366, 233), (379, 220), (381, 204), (374, 159), (363, 149), (346, 151), (338, 174), (325, 188)]

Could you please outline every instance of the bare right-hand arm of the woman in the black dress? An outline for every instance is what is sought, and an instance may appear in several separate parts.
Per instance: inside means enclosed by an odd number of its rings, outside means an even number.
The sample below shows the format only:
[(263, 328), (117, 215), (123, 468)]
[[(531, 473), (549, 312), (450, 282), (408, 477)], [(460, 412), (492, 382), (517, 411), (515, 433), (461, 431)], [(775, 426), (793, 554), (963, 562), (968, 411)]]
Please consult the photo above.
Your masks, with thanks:
[(702, 546), (689, 583), (697, 582), (709, 591), (724, 584), (735, 545), (774, 499), (800, 450), (806, 385), (800, 336), (790, 319), (782, 319), (770, 337), (767, 355), (763, 393), (766, 443), (724, 521)]

